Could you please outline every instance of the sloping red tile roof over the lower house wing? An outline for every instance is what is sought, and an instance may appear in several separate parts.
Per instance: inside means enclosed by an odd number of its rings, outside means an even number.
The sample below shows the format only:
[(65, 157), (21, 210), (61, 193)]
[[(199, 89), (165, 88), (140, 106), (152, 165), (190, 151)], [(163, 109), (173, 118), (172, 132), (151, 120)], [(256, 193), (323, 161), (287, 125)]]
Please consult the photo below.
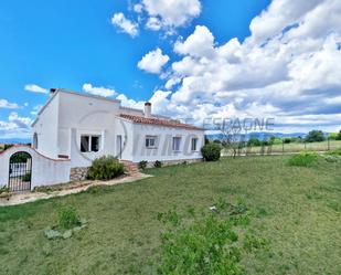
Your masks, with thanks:
[(190, 124), (182, 124), (178, 120), (171, 120), (171, 119), (160, 119), (160, 118), (153, 118), (153, 117), (142, 117), (142, 116), (132, 116), (127, 114), (120, 114), (121, 118), (131, 120), (136, 124), (149, 124), (149, 125), (159, 125), (164, 127), (177, 127), (177, 128), (184, 128), (189, 130), (204, 130), (203, 128), (195, 127)]

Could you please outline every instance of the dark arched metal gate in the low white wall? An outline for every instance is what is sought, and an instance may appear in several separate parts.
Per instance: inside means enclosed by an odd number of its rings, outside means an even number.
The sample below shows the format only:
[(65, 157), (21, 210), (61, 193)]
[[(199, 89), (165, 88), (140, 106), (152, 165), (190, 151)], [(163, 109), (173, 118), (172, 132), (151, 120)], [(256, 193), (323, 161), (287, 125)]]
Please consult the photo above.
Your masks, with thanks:
[(12, 192), (31, 190), (32, 157), (25, 151), (18, 151), (10, 158), (9, 189)]

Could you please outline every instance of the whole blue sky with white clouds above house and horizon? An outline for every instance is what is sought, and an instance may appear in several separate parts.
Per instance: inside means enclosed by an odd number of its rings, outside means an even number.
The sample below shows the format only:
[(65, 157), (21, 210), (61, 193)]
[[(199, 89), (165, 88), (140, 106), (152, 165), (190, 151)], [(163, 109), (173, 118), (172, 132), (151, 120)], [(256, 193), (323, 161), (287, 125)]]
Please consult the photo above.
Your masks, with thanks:
[[(2, 1), (0, 135), (28, 137), (30, 119), (46, 101), (44, 92), (50, 87), (119, 96), (131, 107), (150, 99), (158, 113), (196, 120), (205, 116), (274, 116), (284, 127), (290, 125), (292, 131), (313, 126), (338, 129), (341, 80), (329, 71), (329, 66), (335, 70), (339, 65), (329, 63), (337, 64), (340, 51), (331, 51), (328, 43), (340, 43), (340, 24), (335, 20), (320, 23), (319, 33), (309, 24), (315, 23), (317, 8), (330, 15), (340, 4), (328, 0), (305, 2)], [(124, 20), (113, 20), (115, 14)], [(150, 19), (154, 20), (153, 27), (148, 27)], [(127, 22), (134, 27), (130, 33), (122, 27)], [(232, 41), (234, 38), (237, 43)], [(288, 50), (290, 43), (292, 49)], [(228, 54), (223, 53), (224, 45)], [(138, 65), (157, 49), (158, 54)], [(283, 54), (286, 56), (273, 54), (281, 51), (287, 51)], [(307, 60), (309, 54), (316, 60)], [(327, 64), (326, 59), (330, 59)], [(205, 70), (203, 62), (207, 62)], [(185, 66), (192, 66), (190, 72)], [(194, 73), (198, 67), (200, 73)], [(306, 67), (308, 76), (298, 67)], [(318, 76), (309, 76), (313, 67), (324, 75), (323, 87)], [(221, 78), (210, 76), (220, 72)], [(175, 84), (167, 85), (169, 80)], [(195, 87), (210, 82), (212, 85), (202, 91)], [(302, 82), (311, 85), (301, 87), (298, 83)], [(221, 85), (213, 87), (214, 83)], [(327, 101), (323, 109), (316, 103), (321, 98)], [(330, 119), (332, 115), (335, 120)]]

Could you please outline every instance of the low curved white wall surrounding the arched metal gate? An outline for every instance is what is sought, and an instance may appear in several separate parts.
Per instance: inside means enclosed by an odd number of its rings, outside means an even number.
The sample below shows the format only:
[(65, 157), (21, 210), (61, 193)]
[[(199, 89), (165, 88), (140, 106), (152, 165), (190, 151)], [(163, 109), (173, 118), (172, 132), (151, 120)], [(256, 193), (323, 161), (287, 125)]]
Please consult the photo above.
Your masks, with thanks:
[(71, 161), (68, 159), (50, 159), (31, 147), (14, 146), (0, 154), (0, 186), (8, 186), (9, 162), (15, 152), (28, 152), (32, 157), (31, 189), (70, 181)]

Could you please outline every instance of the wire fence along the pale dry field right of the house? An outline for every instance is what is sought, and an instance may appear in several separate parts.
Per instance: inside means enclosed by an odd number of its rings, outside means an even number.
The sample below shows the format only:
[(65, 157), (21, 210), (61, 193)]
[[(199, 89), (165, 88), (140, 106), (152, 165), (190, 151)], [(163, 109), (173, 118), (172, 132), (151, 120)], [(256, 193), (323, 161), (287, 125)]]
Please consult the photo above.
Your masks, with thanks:
[(268, 144), (260, 141), (260, 146), (249, 145), (247, 141), (241, 141), (231, 146), (224, 147), (222, 150), (223, 156), (253, 156), (253, 155), (286, 155), (297, 154), (300, 151), (316, 151), (323, 152), (341, 148), (341, 140), (327, 139), (321, 142), (307, 142), (296, 141), (286, 142), (283, 140), (280, 144)]

